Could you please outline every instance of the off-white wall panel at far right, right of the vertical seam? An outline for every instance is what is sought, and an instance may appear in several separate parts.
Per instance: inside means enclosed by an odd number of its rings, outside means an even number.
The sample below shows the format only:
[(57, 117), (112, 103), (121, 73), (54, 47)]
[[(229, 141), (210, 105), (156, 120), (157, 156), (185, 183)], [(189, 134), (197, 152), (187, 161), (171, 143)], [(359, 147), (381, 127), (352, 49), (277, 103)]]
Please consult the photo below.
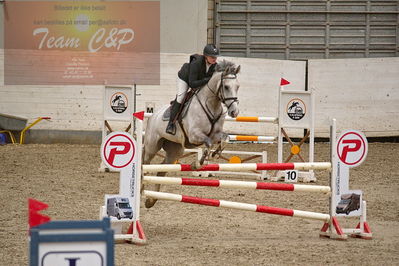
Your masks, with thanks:
[(399, 57), (309, 60), (309, 88), (316, 92), (316, 132), (325, 124), (357, 129), (368, 137), (399, 136)]

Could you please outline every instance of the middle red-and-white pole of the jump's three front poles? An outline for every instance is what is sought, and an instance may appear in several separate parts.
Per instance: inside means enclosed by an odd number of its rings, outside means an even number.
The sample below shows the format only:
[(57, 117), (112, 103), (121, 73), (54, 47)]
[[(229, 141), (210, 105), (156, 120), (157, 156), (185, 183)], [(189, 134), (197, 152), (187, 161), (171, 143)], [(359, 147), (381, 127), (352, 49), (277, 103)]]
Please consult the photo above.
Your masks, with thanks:
[(161, 184), (161, 185), (244, 188), (244, 189), (264, 189), (264, 190), (322, 192), (322, 193), (328, 193), (331, 191), (329, 186), (248, 182), (248, 181), (217, 180), (217, 179), (212, 180), (212, 179), (196, 179), (196, 178), (144, 176), (143, 181), (149, 184)]

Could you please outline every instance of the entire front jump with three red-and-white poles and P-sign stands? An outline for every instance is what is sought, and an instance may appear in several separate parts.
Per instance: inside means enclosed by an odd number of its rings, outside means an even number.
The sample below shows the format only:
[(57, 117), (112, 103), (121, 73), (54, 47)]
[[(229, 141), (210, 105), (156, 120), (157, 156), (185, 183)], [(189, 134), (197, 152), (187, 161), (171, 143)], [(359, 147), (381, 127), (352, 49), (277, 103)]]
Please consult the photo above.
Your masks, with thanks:
[[(142, 127), (142, 121), (138, 121), (139, 127)], [(249, 188), (249, 189), (265, 189), (265, 190), (281, 190), (281, 191), (303, 191), (303, 192), (323, 192), (328, 193), (330, 195), (330, 213), (316, 213), (311, 211), (301, 211), (294, 209), (285, 209), (285, 208), (277, 208), (277, 207), (269, 207), (264, 205), (256, 205), (256, 204), (248, 204), (248, 203), (240, 203), (240, 202), (232, 202), (218, 199), (209, 199), (209, 198), (198, 198), (192, 196), (178, 195), (173, 193), (163, 193), (156, 191), (148, 191), (144, 190), (143, 195), (147, 198), (152, 199), (161, 199), (161, 200), (170, 200), (170, 201), (179, 201), (184, 203), (191, 204), (200, 204), (214, 207), (224, 207), (238, 210), (246, 210), (246, 211), (254, 211), (254, 212), (262, 212), (268, 214), (275, 215), (283, 215), (283, 216), (292, 216), (299, 217), (304, 219), (313, 219), (320, 220), (324, 222), (324, 225), (321, 229), (320, 236), (321, 237), (329, 237), (329, 238), (338, 238), (338, 239), (346, 239), (347, 233), (352, 234), (353, 236), (370, 239), (372, 236), (371, 230), (366, 221), (366, 203), (362, 200), (362, 192), (361, 191), (349, 191), (349, 168), (348, 165), (357, 166), (359, 165), (367, 155), (367, 140), (361, 132), (358, 131), (349, 131), (349, 133), (342, 133), (339, 141), (337, 142), (337, 138), (335, 135), (335, 120), (333, 121), (333, 125), (331, 126), (331, 162), (314, 162), (314, 163), (253, 163), (253, 164), (212, 164), (212, 165), (204, 165), (200, 169), (192, 169), (190, 165), (141, 165), (141, 152), (139, 152), (138, 157), (134, 157), (131, 155), (131, 150), (124, 149), (123, 152), (120, 150), (116, 152), (117, 149), (111, 148), (106, 149), (102, 146), (102, 157), (104, 163), (111, 164), (109, 158), (112, 157), (112, 160), (115, 159), (116, 155), (118, 155), (118, 163), (122, 165), (121, 171), (121, 191), (122, 189), (128, 189), (129, 194), (132, 198), (132, 204), (134, 210), (136, 211), (133, 222), (130, 226), (130, 233), (122, 235), (124, 239), (128, 239), (135, 243), (142, 244), (146, 239), (140, 238), (140, 235), (144, 235), (144, 231), (139, 222), (139, 211), (140, 211), (140, 180), (143, 179), (146, 183), (152, 184), (168, 184), (168, 185), (187, 185), (187, 186), (209, 186), (209, 187), (220, 187), (220, 188)], [(141, 130), (138, 132), (142, 132)], [(128, 137), (128, 134), (123, 133), (124, 136)], [(119, 135), (123, 135), (119, 133)], [(352, 134), (352, 136), (351, 136)], [(349, 137), (348, 137), (349, 136)], [(111, 136), (112, 138), (114, 136)], [(353, 139), (354, 137), (359, 137), (360, 139)], [(138, 135), (137, 139), (138, 146), (133, 148), (134, 150), (141, 151), (142, 149), (142, 135)], [(344, 139), (344, 141), (343, 141)], [(105, 140), (106, 144), (110, 143), (108, 139)], [(123, 147), (127, 147), (128, 145), (124, 144), (120, 141), (113, 142), (115, 144), (112, 145), (121, 145)], [(134, 141), (128, 141), (127, 143), (134, 144)], [(347, 143), (357, 143), (356, 148), (352, 147), (348, 149)], [(103, 144), (104, 145), (104, 144)], [(112, 146), (111, 145), (111, 146)], [(112, 146), (113, 147), (113, 146)], [(344, 154), (343, 155), (343, 150)], [(107, 155), (107, 153), (109, 153)], [(351, 153), (351, 156), (347, 157), (347, 154)], [(111, 155), (110, 155), (111, 154)], [(360, 159), (357, 156), (360, 156)], [(133, 157), (131, 157), (133, 156)], [(108, 159), (107, 159), (108, 158)], [(133, 160), (133, 158), (135, 158)], [(348, 159), (349, 158), (349, 159)], [(354, 159), (353, 159), (354, 158)], [(115, 159), (116, 160), (116, 159)], [(129, 161), (130, 160), (130, 161)], [(354, 160), (355, 163), (352, 163), (350, 160)], [(128, 161), (128, 164), (125, 164)], [(114, 165), (115, 166), (115, 165)], [(115, 166), (116, 167), (116, 166)], [(207, 171), (207, 170), (234, 170), (234, 171), (243, 171), (245, 170), (287, 170), (287, 169), (300, 169), (300, 170), (329, 170), (331, 173), (331, 184), (330, 186), (304, 186), (297, 184), (276, 184), (276, 183), (265, 183), (265, 182), (243, 182), (243, 181), (227, 181), (227, 180), (204, 180), (204, 179), (190, 179), (190, 178), (165, 178), (165, 177), (148, 177), (141, 176), (141, 173), (145, 171)], [(124, 170), (127, 169), (127, 170)], [(359, 196), (353, 197), (354, 200), (357, 199), (358, 208), (353, 208), (352, 210), (343, 210), (342, 207), (338, 204), (340, 199), (347, 199), (346, 194), (342, 193), (350, 193), (356, 192), (358, 195), (352, 193), (351, 196)], [(126, 193), (126, 192), (125, 192)], [(356, 201), (352, 204), (348, 204), (351, 206), (355, 206)], [(356, 206), (355, 206), (356, 207)], [(341, 208), (341, 209), (340, 209)], [(360, 210), (359, 210), (360, 209)], [(337, 216), (345, 215), (341, 214), (343, 212), (348, 213), (353, 211), (352, 216), (360, 216), (360, 222), (358, 226), (354, 229), (343, 229), (338, 223)], [(102, 211), (101, 215), (104, 216), (104, 211)]]

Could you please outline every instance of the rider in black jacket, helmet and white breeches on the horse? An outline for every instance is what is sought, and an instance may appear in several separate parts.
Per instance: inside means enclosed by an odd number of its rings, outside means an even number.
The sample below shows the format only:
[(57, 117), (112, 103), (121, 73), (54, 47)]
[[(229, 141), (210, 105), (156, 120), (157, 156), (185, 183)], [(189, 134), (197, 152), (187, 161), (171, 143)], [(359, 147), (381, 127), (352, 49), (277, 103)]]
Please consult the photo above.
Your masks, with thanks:
[(194, 54), (190, 56), (190, 63), (185, 63), (177, 74), (177, 94), (170, 109), (170, 118), (166, 133), (176, 134), (176, 116), (186, 97), (188, 88), (198, 89), (211, 79), (215, 72), (216, 58), (219, 49), (213, 44), (207, 44), (203, 55)]

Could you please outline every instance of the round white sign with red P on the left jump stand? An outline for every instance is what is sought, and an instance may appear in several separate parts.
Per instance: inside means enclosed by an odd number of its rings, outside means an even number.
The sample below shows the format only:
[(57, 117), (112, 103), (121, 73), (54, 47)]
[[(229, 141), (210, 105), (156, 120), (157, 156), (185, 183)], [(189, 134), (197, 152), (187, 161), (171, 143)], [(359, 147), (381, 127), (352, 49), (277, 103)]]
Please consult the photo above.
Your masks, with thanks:
[(135, 140), (126, 132), (112, 132), (101, 145), (101, 159), (113, 170), (120, 170), (129, 165), (135, 154)]

